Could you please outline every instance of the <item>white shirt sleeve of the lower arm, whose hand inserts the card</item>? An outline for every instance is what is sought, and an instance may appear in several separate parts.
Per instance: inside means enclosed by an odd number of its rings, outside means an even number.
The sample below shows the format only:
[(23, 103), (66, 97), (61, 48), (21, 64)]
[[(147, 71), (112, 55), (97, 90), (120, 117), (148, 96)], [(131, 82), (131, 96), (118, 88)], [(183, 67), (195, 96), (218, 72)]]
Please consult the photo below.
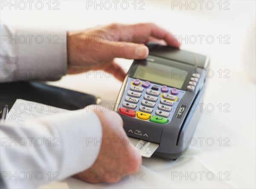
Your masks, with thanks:
[(102, 127), (93, 111), (82, 109), (1, 125), (1, 188), (35, 188), (93, 165)]

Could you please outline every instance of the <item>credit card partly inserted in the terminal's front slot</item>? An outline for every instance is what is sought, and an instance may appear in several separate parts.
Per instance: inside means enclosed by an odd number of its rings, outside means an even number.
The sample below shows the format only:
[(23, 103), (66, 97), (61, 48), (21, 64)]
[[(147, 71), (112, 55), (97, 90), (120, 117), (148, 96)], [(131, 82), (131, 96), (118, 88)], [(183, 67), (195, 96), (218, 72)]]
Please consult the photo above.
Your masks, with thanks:
[(136, 139), (133, 137), (128, 138), (130, 142), (139, 150), (140, 155), (143, 157), (151, 157), (159, 147), (159, 144), (154, 142), (148, 142), (146, 140)]

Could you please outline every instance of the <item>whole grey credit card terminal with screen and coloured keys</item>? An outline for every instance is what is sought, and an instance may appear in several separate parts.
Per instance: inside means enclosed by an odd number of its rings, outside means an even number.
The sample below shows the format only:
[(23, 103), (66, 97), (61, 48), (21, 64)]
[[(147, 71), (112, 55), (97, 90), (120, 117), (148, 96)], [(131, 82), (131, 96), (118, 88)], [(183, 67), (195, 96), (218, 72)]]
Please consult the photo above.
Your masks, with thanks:
[(189, 146), (201, 111), (209, 58), (158, 44), (134, 60), (115, 111), (128, 136), (160, 144), (154, 156), (177, 159)]

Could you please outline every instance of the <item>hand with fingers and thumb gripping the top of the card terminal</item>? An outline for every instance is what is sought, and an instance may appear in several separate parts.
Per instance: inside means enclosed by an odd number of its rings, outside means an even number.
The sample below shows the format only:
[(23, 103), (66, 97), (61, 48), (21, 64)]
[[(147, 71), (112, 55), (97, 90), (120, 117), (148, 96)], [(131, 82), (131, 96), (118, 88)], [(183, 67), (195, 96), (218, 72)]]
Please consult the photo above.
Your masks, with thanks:
[[(113, 58), (143, 59), (148, 56), (148, 41), (179, 47), (172, 34), (153, 23), (111, 24), (79, 32), (67, 32), (68, 74), (88, 69), (114, 73), (122, 81), (122, 68)], [(112, 72), (113, 73), (113, 72)]]

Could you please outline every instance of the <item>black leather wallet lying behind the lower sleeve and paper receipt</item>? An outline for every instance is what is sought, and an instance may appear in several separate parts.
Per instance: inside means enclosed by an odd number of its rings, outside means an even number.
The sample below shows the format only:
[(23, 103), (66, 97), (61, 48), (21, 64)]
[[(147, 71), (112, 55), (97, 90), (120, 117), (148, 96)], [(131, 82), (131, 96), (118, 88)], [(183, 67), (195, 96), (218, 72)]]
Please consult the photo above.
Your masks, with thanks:
[(96, 104), (98, 97), (33, 81), (18, 81), (0, 84), (0, 105), (9, 109), (16, 99), (39, 102), (67, 110), (78, 110)]

